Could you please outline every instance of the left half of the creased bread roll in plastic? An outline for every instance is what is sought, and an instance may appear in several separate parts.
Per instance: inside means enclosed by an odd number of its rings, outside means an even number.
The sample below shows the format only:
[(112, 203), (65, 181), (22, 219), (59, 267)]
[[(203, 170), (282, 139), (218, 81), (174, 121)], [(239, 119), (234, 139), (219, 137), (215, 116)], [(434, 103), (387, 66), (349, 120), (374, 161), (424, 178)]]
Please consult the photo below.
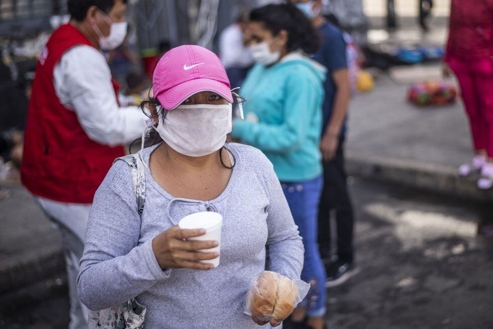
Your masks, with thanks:
[(257, 277), (256, 291), (251, 292), (250, 310), (257, 318), (269, 318), (277, 297), (277, 273), (265, 271)]

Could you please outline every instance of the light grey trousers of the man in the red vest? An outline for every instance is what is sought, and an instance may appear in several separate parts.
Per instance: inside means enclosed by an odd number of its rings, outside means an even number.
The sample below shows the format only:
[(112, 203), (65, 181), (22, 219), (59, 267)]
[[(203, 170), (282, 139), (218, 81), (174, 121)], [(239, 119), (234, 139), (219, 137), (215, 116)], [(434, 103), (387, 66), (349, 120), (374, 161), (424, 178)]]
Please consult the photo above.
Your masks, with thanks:
[(91, 205), (66, 204), (44, 198), (36, 200), (61, 234), (70, 298), (69, 329), (87, 329), (88, 309), (78, 299), (76, 279), (80, 269), (79, 260), (84, 252)]

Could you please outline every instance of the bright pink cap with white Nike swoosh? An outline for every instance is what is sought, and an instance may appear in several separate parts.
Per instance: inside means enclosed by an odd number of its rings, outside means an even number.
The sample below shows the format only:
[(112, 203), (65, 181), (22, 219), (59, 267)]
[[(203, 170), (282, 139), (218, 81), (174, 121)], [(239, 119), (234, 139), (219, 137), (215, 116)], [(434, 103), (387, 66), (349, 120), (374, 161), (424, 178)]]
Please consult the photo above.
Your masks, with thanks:
[(212, 91), (233, 102), (226, 70), (209, 49), (184, 45), (164, 54), (152, 76), (152, 89), (162, 107), (174, 110), (190, 96)]

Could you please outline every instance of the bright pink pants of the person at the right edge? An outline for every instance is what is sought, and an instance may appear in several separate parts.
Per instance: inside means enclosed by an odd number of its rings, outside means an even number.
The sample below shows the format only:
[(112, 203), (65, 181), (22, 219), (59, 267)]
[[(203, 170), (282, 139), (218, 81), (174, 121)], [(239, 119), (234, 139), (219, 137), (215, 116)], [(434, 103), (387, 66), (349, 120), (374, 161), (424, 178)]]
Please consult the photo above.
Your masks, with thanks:
[(466, 108), (474, 148), (493, 158), (493, 58), (463, 61), (450, 58)]

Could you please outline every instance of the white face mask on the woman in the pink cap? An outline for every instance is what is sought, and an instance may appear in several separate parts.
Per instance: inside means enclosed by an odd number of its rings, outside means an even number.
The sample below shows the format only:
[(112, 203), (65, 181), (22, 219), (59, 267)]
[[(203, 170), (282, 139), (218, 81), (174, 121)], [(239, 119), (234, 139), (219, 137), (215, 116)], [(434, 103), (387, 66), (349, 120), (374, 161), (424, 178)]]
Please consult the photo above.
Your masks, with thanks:
[(173, 150), (190, 157), (216, 152), (231, 133), (231, 104), (180, 105), (169, 111), (165, 120), (159, 115), (155, 128)]

